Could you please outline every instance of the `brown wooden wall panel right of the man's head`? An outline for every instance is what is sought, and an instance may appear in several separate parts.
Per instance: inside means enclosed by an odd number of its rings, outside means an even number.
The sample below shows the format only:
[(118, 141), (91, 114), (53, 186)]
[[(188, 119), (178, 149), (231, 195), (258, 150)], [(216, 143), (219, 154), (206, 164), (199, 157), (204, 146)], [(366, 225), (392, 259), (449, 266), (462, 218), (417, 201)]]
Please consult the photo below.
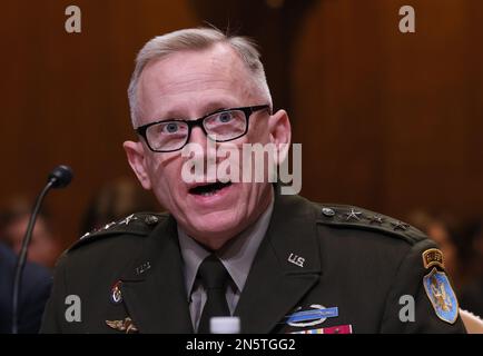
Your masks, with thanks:
[[(398, 31), (403, 4), (416, 10), (415, 33)], [(482, 10), (477, 1), (319, 2), (293, 72), (306, 195), (397, 216), (483, 214)]]

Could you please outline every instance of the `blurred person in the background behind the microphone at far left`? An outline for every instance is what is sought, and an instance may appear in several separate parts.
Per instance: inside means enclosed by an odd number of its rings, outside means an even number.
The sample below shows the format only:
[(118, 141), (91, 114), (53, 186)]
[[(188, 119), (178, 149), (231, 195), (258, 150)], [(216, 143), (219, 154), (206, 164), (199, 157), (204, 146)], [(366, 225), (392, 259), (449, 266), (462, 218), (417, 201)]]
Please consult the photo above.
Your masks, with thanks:
[[(12, 329), (12, 288), (17, 256), (29, 222), (31, 204), (24, 197), (4, 201), (0, 210), (0, 334)], [(21, 334), (34, 334), (40, 328), (52, 277), (48, 268), (59, 255), (47, 215), (40, 214), (29, 246), (28, 261), (20, 288), (19, 324)]]

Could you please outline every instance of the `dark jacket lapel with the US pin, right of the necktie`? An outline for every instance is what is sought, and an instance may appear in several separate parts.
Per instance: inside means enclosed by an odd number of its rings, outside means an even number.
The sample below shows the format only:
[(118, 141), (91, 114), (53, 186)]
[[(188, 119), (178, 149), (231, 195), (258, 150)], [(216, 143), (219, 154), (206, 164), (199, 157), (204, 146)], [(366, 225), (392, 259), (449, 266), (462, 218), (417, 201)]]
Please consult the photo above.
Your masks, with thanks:
[(267, 234), (235, 310), (243, 333), (270, 333), (321, 276), (316, 209), (296, 196), (275, 198)]

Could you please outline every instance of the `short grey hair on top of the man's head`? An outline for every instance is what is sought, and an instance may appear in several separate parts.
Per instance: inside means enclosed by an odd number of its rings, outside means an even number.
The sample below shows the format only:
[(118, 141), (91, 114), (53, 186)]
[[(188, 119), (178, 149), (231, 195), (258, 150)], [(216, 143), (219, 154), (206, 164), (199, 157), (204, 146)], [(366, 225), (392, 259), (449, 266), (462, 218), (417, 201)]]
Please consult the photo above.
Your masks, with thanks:
[(154, 59), (160, 59), (175, 52), (204, 50), (216, 43), (226, 43), (235, 50), (253, 75), (256, 87), (266, 96), (266, 100), (268, 100), (272, 107), (272, 96), (265, 77), (264, 66), (254, 41), (240, 36), (227, 36), (214, 28), (184, 29), (155, 37), (142, 47), (136, 58), (136, 67), (128, 89), (131, 121), (135, 128), (138, 125), (140, 116), (137, 98), (138, 83), (146, 65)]

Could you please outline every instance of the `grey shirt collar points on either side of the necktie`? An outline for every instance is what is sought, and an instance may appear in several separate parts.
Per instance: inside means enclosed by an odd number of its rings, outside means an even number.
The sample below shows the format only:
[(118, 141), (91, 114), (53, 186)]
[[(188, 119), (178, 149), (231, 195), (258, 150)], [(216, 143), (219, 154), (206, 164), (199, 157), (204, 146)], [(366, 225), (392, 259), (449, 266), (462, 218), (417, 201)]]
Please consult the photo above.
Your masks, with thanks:
[[(216, 255), (229, 273), (239, 293), (245, 287), (252, 263), (268, 229), (273, 209), (274, 195), (272, 195), (272, 201), (268, 208), (262, 214), (262, 216), (253, 226), (244, 230), (236, 238), (228, 241), (227, 245), (220, 250), (216, 251)], [(195, 285), (198, 267), (203, 260), (210, 255), (210, 251), (198, 244), (195, 239), (189, 237), (179, 227), (179, 225), (178, 239), (179, 247), (181, 249), (181, 257), (184, 260), (187, 298), (189, 300), (193, 293), (193, 287)]]

